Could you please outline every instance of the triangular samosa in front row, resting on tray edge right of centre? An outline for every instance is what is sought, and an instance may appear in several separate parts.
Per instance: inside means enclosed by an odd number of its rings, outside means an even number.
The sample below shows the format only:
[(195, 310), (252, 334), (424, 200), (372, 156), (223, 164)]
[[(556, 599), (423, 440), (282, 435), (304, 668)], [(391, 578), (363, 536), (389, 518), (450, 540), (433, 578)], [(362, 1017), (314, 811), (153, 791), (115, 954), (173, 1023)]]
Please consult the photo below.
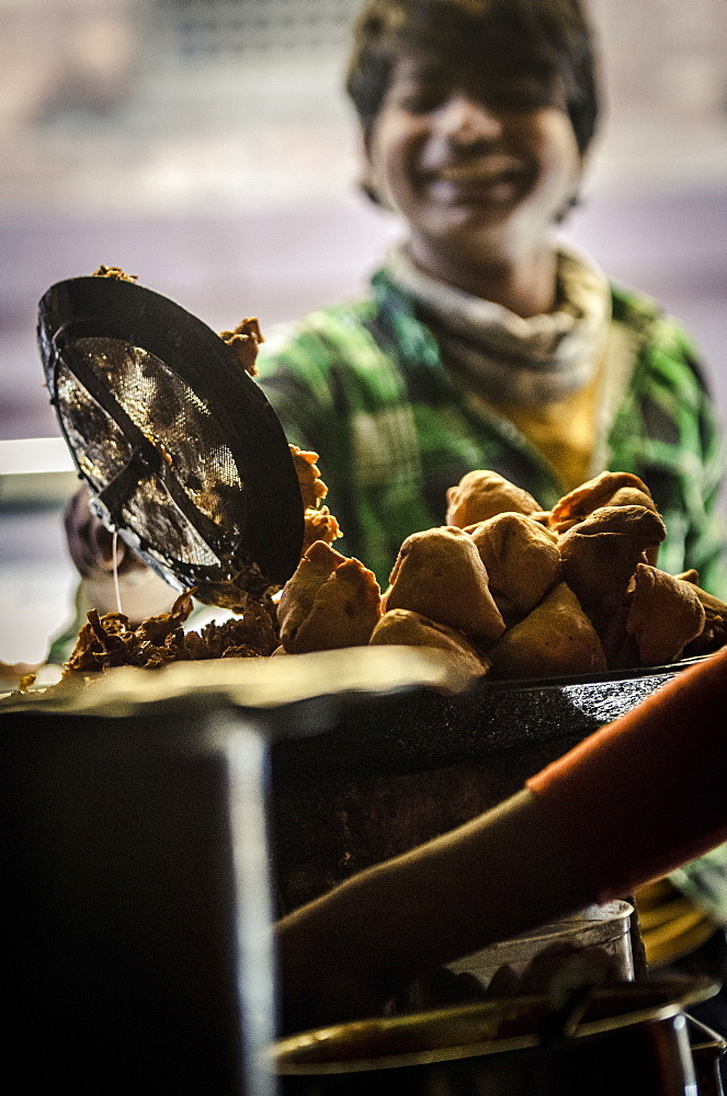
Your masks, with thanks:
[(606, 669), (595, 629), (565, 582), (506, 631), (488, 658), (498, 677), (547, 677)]

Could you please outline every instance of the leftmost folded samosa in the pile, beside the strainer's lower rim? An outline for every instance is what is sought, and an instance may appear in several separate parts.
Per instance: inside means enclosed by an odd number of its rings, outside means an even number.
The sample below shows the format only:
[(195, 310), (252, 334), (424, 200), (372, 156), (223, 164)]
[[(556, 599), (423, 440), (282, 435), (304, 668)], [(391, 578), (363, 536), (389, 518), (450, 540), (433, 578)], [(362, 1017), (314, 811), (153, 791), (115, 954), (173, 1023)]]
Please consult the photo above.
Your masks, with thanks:
[(373, 571), (318, 540), (283, 587), (277, 606), (281, 642), (289, 654), (363, 646), (380, 614)]

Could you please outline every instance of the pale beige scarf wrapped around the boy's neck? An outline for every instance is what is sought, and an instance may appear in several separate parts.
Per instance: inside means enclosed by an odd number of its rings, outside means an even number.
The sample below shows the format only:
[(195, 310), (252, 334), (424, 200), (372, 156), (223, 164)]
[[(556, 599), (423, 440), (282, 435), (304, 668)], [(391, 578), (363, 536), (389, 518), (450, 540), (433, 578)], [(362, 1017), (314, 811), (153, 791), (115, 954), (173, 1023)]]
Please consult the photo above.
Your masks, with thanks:
[(455, 289), (412, 263), (402, 243), (386, 271), (422, 313), (444, 364), (484, 396), (522, 407), (579, 391), (598, 372), (611, 320), (611, 292), (588, 256), (559, 242), (557, 301), (552, 312), (523, 318), (502, 305)]

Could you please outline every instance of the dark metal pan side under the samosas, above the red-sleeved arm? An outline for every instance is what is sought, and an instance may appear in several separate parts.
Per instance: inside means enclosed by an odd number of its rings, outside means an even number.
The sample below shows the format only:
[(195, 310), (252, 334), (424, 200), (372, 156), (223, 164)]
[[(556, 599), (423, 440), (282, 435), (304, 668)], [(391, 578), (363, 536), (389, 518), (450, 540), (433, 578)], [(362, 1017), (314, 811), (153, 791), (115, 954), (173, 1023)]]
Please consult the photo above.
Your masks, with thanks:
[(488, 810), (698, 661), (393, 695), (341, 709), (319, 734), (277, 741), (279, 912)]

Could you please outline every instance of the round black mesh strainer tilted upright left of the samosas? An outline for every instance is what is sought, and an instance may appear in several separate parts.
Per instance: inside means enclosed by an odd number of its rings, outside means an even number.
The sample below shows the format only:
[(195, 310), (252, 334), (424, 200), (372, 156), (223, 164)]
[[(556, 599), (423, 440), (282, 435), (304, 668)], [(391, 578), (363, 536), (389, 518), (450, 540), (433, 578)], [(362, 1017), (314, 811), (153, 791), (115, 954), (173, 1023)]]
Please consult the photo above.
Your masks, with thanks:
[(303, 543), (293, 458), (219, 335), (134, 282), (90, 276), (44, 295), (38, 345), (60, 429), (110, 530), (205, 601), (225, 603), (219, 590), (238, 581), (287, 581)]

